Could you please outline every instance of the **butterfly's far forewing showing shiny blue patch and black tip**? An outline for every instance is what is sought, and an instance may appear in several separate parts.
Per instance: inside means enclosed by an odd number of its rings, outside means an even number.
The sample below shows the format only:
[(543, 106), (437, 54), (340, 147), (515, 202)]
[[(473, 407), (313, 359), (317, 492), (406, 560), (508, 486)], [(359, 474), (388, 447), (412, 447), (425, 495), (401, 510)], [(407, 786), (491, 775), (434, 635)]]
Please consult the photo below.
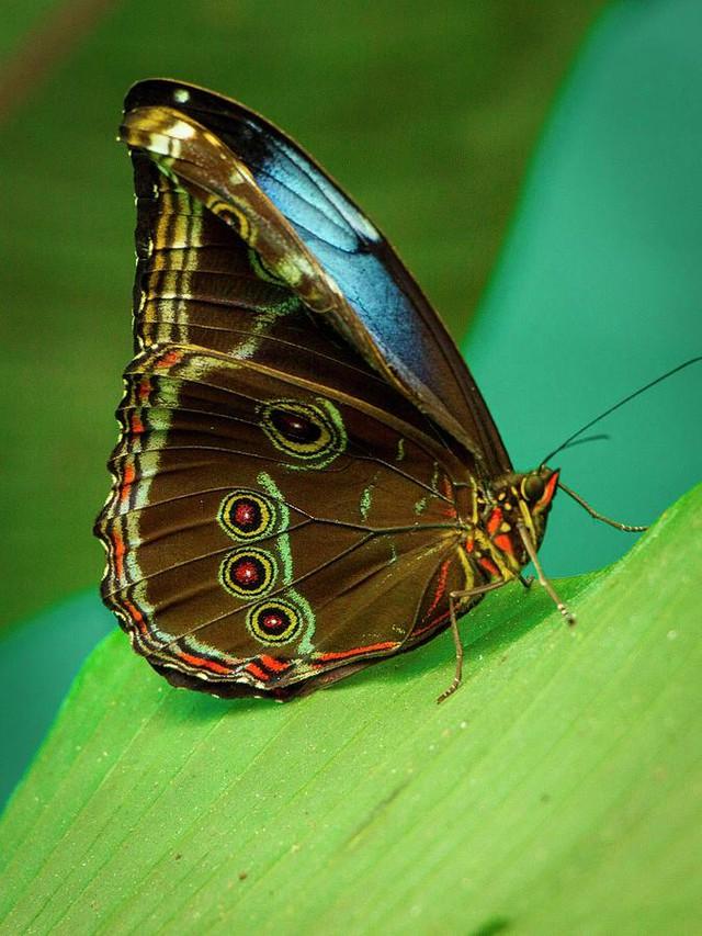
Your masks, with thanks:
[(235, 101), (178, 82), (139, 82), (125, 106), (127, 114), (168, 108), (211, 131), (340, 289), (343, 302), (330, 317), (347, 340), (462, 442), (479, 472), (510, 470), (489, 410), (421, 290), (386, 238), (296, 143)]

